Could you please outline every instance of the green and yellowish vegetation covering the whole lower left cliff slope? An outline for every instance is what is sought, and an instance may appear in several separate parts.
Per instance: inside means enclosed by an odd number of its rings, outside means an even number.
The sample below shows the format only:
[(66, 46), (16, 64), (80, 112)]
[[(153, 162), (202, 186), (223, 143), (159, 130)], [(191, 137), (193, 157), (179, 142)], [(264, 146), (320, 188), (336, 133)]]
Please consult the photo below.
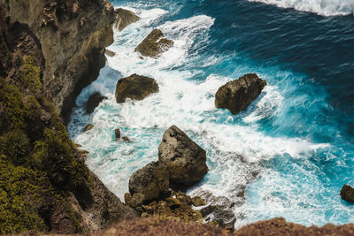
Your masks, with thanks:
[[(20, 61), (17, 77), (0, 78), (0, 233), (50, 231), (53, 206), (80, 232), (63, 191), (87, 189), (87, 167), (76, 159), (76, 146), (42, 96), (35, 56)], [(49, 120), (41, 119), (43, 112)]]

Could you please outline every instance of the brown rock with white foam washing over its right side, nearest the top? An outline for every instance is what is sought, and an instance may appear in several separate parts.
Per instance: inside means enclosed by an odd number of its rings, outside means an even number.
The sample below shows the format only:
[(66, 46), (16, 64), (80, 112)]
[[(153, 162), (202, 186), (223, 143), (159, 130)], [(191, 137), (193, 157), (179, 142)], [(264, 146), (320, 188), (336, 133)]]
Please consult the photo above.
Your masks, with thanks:
[(158, 54), (173, 46), (173, 41), (166, 39), (159, 29), (154, 29), (136, 48), (144, 57), (158, 58)]

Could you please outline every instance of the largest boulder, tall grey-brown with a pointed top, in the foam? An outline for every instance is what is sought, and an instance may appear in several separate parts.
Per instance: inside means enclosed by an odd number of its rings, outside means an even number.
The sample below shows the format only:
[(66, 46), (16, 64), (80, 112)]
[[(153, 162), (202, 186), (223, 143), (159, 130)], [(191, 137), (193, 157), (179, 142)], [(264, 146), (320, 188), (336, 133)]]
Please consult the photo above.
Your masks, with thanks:
[(165, 131), (158, 147), (158, 162), (167, 166), (170, 181), (182, 187), (196, 184), (208, 171), (204, 149), (177, 126)]

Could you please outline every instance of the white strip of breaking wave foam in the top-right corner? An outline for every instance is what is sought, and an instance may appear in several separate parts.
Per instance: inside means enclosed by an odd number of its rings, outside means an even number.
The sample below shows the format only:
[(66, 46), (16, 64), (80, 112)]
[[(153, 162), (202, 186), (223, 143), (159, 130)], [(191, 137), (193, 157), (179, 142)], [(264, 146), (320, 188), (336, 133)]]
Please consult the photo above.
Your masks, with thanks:
[(349, 15), (354, 12), (354, 0), (249, 0), (275, 4), (282, 8), (294, 8), (298, 11), (311, 11), (319, 15)]

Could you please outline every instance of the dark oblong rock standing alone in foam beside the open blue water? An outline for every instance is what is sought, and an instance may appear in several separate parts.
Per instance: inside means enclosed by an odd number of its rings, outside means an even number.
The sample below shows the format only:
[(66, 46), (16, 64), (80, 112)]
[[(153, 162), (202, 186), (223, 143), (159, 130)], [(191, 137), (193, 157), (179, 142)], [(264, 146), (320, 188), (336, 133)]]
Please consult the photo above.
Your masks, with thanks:
[(227, 82), (215, 95), (215, 106), (226, 108), (233, 115), (245, 110), (266, 86), (266, 80), (258, 78), (256, 73), (248, 73), (238, 80)]

